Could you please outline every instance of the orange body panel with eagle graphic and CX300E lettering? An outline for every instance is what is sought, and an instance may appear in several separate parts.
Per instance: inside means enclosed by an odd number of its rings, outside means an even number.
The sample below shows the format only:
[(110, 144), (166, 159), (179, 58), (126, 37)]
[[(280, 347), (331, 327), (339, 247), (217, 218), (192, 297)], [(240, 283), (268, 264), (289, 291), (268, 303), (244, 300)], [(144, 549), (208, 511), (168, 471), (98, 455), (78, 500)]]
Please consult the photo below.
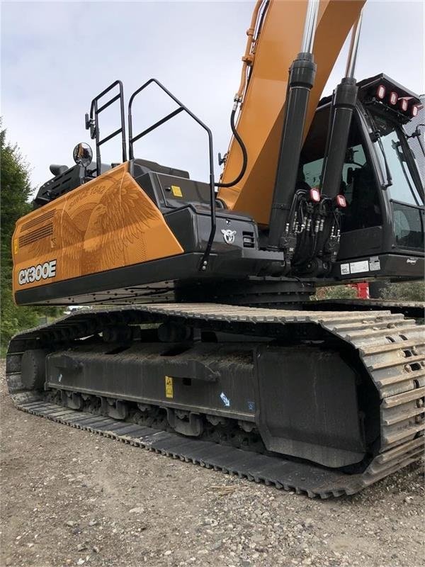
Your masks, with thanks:
[(182, 252), (125, 163), (18, 220), (13, 293)]

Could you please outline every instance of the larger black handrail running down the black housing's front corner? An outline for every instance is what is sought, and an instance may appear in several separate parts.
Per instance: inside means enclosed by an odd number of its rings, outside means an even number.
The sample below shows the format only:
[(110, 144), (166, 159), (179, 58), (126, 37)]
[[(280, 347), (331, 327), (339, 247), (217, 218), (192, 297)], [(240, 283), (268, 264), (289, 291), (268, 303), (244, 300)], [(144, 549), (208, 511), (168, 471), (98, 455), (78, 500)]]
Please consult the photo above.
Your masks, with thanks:
[[(167, 114), (166, 116), (164, 116), (164, 118), (162, 118), (161, 120), (158, 120), (152, 126), (149, 126), (149, 128), (146, 128), (145, 130), (143, 130), (140, 134), (133, 136), (132, 135), (132, 112), (131, 112), (132, 111), (132, 103), (135, 99), (135, 96), (140, 94), (143, 90), (146, 89), (147, 86), (149, 86), (149, 84), (152, 84), (152, 83), (157, 84), (157, 86), (159, 86), (159, 88), (162, 89), (164, 91), (164, 93), (166, 93), (179, 106), (179, 108), (177, 108), (175, 111)], [(210, 185), (211, 229), (210, 229), (210, 236), (208, 237), (207, 246), (205, 248), (205, 252), (203, 254), (203, 257), (201, 259), (200, 266), (199, 266), (200, 270), (205, 271), (207, 269), (207, 266), (208, 266), (208, 259), (210, 257), (212, 242), (214, 241), (215, 228), (216, 228), (215, 189), (214, 189), (214, 152), (213, 152), (213, 147), (212, 147), (212, 133), (211, 133), (210, 128), (208, 128), (208, 126), (205, 125), (202, 122), (202, 120), (200, 120), (198, 118), (198, 116), (193, 114), (193, 112), (191, 112), (183, 103), (181, 103), (181, 101), (179, 101), (179, 99), (177, 99), (176, 96), (174, 96), (174, 94), (172, 94), (168, 89), (166, 89), (166, 87), (162, 83), (160, 83), (157, 79), (152, 78), (152, 79), (149, 79), (149, 81), (145, 82), (145, 84), (142, 84), (142, 86), (140, 86), (140, 88), (137, 89), (137, 91), (135, 91), (132, 94), (132, 96), (130, 96), (130, 101), (128, 102), (128, 152), (129, 152), (129, 158), (134, 159), (134, 152), (133, 152), (134, 142), (136, 142), (137, 140), (140, 140), (140, 138), (149, 134), (150, 132), (152, 132), (152, 130), (155, 130), (156, 128), (158, 128), (162, 124), (166, 123), (171, 118), (174, 118), (174, 116), (177, 116), (179, 113), (181, 113), (183, 111), (186, 112), (189, 116), (191, 116), (191, 118), (193, 118), (193, 120), (195, 120), (196, 123), (198, 123), (200, 125), (200, 127), (203, 128), (208, 135), (208, 150), (209, 150), (209, 154), (210, 154), (210, 156), (209, 156), (210, 157), (210, 183), (209, 183), (209, 185)]]

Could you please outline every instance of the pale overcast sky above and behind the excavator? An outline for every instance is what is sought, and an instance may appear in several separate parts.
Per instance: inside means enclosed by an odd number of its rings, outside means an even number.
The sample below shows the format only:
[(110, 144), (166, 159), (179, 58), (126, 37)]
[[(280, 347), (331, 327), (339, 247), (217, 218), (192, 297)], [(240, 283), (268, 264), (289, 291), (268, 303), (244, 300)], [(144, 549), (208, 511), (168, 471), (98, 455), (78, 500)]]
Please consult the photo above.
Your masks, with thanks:
[[(224, 153), (253, 7), (254, 0), (2, 1), (1, 115), (8, 140), (30, 164), (33, 186), (49, 179), (49, 164), (72, 165), (77, 142), (91, 143), (84, 113), (115, 79), (123, 81), (127, 99), (150, 77), (159, 79), (210, 126), (215, 155)], [(369, 0), (356, 78), (385, 72), (423, 93), (424, 19), (423, 0)], [(344, 74), (346, 47), (324, 94)], [(135, 131), (171, 108), (157, 92), (140, 98)], [(102, 135), (114, 118), (114, 112), (105, 117)], [(181, 115), (135, 148), (137, 157), (207, 177), (205, 134)], [(120, 161), (118, 143), (106, 145), (102, 157)]]

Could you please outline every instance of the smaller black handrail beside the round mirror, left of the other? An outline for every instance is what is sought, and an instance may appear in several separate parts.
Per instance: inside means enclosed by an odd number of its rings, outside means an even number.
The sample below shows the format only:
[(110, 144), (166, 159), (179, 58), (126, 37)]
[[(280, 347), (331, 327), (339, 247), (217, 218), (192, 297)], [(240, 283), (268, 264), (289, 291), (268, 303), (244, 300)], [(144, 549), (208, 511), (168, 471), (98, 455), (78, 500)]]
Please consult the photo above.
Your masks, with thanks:
[[(111, 91), (115, 86), (118, 85), (119, 92), (108, 102), (98, 106), (98, 101), (103, 98), (109, 91)], [(115, 101), (120, 101), (120, 118), (121, 127), (118, 130), (114, 130), (113, 133), (108, 134), (106, 137), (100, 139), (100, 129), (98, 125), (98, 115), (104, 111), (108, 106), (111, 106)], [(87, 115), (86, 115), (87, 117)], [(90, 120), (86, 118), (86, 129), (90, 128), (90, 137), (92, 140), (96, 140), (96, 174), (101, 174), (101, 145), (108, 142), (114, 136), (121, 134), (121, 144), (123, 147), (123, 162), (127, 161), (127, 144), (125, 140), (125, 116), (124, 116), (124, 91), (123, 83), (121, 81), (114, 81), (109, 86), (106, 87), (104, 91), (98, 94), (92, 101), (90, 105)]]

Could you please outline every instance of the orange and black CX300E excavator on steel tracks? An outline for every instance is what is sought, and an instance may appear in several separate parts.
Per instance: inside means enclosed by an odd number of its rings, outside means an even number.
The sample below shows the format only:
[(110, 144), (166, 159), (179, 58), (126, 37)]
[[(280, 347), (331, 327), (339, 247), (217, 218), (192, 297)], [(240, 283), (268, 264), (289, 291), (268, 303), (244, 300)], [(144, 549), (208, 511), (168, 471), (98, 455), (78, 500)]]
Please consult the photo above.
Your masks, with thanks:
[[(16, 303), (69, 310), (11, 339), (18, 409), (310, 497), (421, 459), (423, 304), (312, 301), (424, 274), (404, 129), (421, 103), (385, 74), (355, 78), (363, 4), (256, 2), (218, 181), (211, 130), (157, 79), (127, 108), (120, 81), (91, 101), (95, 162), (81, 142), (73, 167), (52, 165), (13, 234)], [(321, 99), (350, 32), (345, 76)], [(175, 110), (140, 131), (146, 89)], [(113, 104), (119, 128), (101, 135)], [(208, 139), (208, 182), (135, 157), (180, 113)], [(122, 160), (105, 164), (113, 138)]]

